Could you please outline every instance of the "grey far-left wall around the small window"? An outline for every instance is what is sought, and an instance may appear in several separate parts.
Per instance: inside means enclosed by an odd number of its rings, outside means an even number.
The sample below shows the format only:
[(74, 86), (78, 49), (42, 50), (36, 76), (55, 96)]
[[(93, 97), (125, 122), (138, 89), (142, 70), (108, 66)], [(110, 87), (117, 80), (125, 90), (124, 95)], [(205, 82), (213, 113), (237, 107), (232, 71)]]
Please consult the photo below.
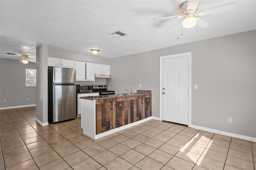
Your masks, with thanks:
[(26, 68), (36, 69), (36, 63), (0, 59), (0, 108), (36, 104), (36, 87), (26, 87)]

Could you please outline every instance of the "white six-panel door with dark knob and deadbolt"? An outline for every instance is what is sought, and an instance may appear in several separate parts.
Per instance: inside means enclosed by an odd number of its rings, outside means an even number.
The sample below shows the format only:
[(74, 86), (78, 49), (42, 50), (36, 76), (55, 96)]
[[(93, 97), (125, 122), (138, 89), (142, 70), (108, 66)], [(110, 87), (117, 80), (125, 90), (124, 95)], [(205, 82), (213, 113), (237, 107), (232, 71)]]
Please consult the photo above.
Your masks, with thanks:
[(188, 125), (188, 55), (162, 59), (162, 120)]

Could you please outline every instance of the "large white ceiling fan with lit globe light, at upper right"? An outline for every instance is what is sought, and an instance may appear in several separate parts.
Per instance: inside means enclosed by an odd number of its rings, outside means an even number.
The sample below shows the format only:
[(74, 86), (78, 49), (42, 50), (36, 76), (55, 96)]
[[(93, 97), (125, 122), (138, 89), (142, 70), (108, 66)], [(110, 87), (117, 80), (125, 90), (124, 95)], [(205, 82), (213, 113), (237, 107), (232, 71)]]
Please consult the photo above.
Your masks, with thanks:
[[(180, 22), (178, 22), (177, 24), (172, 26), (172, 28), (170, 28), (169, 30), (174, 30), (174, 28), (179, 26), (181, 23), (184, 28), (192, 28), (192, 27), (196, 26), (196, 24), (198, 26), (200, 26), (201, 28), (206, 28), (209, 25), (209, 23), (202, 20), (201, 18), (199, 18), (197, 16), (231, 11), (236, 8), (236, 3), (231, 3), (231, 4), (216, 6), (214, 8), (210, 8), (207, 10), (202, 10), (202, 11), (197, 12), (198, 4), (199, 4), (199, 0), (188, 0), (181, 5), (182, 15), (154, 18), (153, 21), (167, 20), (167, 19), (174, 19), (174, 18), (184, 18), (183, 20), (181, 20)], [(167, 30), (167, 32), (169, 30)]]

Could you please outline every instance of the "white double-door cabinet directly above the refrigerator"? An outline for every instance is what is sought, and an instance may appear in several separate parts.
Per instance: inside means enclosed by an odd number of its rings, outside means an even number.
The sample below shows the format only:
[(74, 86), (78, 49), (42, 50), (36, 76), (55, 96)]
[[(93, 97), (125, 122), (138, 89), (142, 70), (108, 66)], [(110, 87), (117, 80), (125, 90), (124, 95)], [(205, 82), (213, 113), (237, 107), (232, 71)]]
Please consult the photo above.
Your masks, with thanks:
[(48, 57), (48, 66), (74, 68), (74, 60)]

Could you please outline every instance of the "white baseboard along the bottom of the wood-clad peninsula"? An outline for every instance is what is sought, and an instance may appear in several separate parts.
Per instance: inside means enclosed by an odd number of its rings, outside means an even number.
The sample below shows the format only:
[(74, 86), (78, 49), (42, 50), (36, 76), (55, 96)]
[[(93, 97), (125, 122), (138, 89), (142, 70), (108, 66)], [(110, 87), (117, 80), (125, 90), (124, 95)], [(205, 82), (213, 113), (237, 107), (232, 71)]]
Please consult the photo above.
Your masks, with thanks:
[(130, 123), (130, 124), (128, 124), (128, 125), (124, 125), (124, 126), (122, 126), (122, 127), (114, 128), (114, 129), (108, 130), (108, 131), (106, 131), (106, 132), (103, 132), (103, 133), (100, 133), (100, 134), (96, 134), (96, 135), (94, 135), (94, 136), (91, 135), (91, 134), (89, 134), (88, 132), (86, 132), (86, 130), (83, 130), (83, 134), (85, 134), (86, 136), (89, 136), (90, 138), (92, 138), (92, 139), (95, 140), (95, 139), (101, 138), (101, 137), (103, 137), (103, 136), (107, 136), (107, 135), (109, 135), (109, 134), (112, 134), (112, 133), (114, 133), (114, 132), (118, 132), (118, 131), (120, 131), (120, 130), (124, 130), (124, 129), (126, 129), (126, 128), (129, 128), (129, 127), (138, 125), (138, 124), (140, 124), (140, 123), (149, 121), (149, 120), (151, 120), (151, 119), (152, 119), (152, 117), (148, 117), (148, 118), (142, 119), (142, 120), (140, 120), (140, 121), (137, 121), (137, 122), (134, 122), (134, 123)]

